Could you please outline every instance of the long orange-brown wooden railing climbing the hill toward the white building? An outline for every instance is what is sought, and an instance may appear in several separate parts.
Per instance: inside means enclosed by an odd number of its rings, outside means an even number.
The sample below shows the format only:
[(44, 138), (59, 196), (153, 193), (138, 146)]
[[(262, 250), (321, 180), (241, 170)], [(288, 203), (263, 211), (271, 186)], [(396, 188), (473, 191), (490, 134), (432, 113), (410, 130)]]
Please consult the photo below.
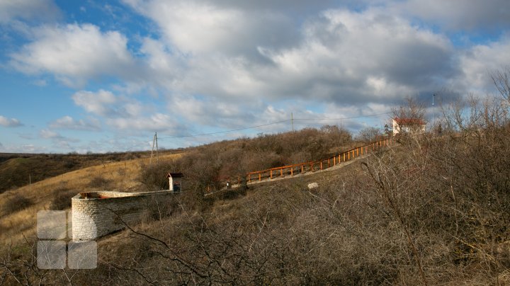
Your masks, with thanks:
[(262, 171), (254, 171), (246, 173), (246, 181), (251, 183), (253, 181), (263, 181), (266, 179), (273, 178), (283, 178), (285, 176), (294, 176), (301, 173), (314, 172), (319, 170), (324, 170), (327, 168), (331, 168), (340, 164), (342, 162), (346, 162), (352, 159), (357, 158), (358, 156), (363, 156), (363, 154), (368, 154), (370, 151), (374, 151), (376, 149), (380, 149), (382, 147), (388, 146), (392, 144), (392, 138), (382, 139), (377, 142), (373, 142), (370, 144), (366, 144), (360, 147), (355, 147), (348, 151), (344, 151), (335, 156), (331, 156), (327, 159), (322, 159), (319, 161), (311, 161), (306, 163), (281, 166), (276, 168), (268, 168)]

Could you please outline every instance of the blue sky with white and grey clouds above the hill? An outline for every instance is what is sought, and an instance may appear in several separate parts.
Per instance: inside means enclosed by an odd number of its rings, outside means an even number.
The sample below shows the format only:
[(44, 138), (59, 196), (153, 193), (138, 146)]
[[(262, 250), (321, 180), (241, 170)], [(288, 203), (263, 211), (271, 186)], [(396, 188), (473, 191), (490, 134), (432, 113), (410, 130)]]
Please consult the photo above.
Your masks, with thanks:
[(0, 51), (0, 152), (356, 134), (405, 98), (432, 118), (433, 94), (494, 93), (510, 2), (0, 0)]

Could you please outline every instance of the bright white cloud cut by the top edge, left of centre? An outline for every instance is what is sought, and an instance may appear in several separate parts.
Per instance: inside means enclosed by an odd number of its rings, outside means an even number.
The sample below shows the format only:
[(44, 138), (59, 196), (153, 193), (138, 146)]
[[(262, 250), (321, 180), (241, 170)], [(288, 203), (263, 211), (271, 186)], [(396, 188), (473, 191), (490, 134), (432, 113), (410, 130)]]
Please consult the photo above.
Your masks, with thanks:
[(297, 41), (293, 21), (278, 11), (251, 13), (210, 1), (128, 1), (152, 18), (164, 39), (183, 52), (258, 56), (258, 45), (279, 47)]

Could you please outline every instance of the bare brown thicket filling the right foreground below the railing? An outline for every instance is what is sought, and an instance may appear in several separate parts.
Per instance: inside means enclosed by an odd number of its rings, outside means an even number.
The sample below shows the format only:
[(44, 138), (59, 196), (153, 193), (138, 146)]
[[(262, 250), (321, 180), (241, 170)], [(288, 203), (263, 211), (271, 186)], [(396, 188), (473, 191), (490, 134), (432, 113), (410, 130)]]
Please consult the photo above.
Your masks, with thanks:
[(312, 193), (305, 182), (282, 182), (226, 209), (222, 202), (164, 219), (164, 230), (142, 231), (171, 234), (165, 244), (146, 239), (143, 253), (132, 253), (136, 263), (123, 265), (144, 276), (110, 274), (173, 283), (508, 284), (504, 106), (497, 98), (451, 105), (440, 135), (403, 135)]

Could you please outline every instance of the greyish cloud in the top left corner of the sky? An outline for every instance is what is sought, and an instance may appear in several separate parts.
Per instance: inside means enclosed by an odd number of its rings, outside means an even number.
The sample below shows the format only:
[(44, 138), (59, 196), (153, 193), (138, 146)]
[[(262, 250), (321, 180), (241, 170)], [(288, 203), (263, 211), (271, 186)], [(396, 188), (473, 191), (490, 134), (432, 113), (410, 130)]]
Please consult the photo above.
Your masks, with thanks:
[(25, 20), (51, 20), (60, 16), (60, 10), (52, 0), (2, 0), (0, 1), (0, 24), (16, 18)]

